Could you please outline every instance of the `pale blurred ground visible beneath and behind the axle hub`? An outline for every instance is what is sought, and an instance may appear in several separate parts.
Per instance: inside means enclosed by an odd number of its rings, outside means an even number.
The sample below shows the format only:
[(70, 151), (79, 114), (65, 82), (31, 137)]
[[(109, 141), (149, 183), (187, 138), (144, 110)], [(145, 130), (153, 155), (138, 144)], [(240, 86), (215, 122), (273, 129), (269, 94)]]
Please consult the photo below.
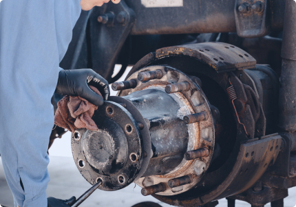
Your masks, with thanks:
[[(120, 67), (116, 67), (116, 71)], [(129, 68), (130, 70), (131, 68)], [(121, 78), (123, 80), (127, 75), (127, 70), (125, 75)], [(116, 95), (116, 92), (112, 91), (112, 95)], [(81, 176), (78, 172), (76, 165), (74, 164), (71, 151), (71, 134), (67, 132), (62, 139), (56, 139), (52, 148), (50, 149), (50, 164), (48, 170), (50, 172), (51, 181), (48, 184), (47, 196), (56, 197), (60, 199), (68, 199), (73, 195), (79, 197), (88, 188), (90, 184)], [(106, 192), (103, 190), (96, 190), (83, 204), (81, 207), (97, 207), (97, 206), (109, 206), (109, 207), (131, 207), (134, 204), (138, 204), (143, 201), (154, 201), (160, 204), (162, 207), (170, 206), (164, 204), (154, 197), (147, 196), (144, 197), (140, 194), (140, 187), (131, 184), (122, 190), (117, 190), (114, 192)], [(1, 157), (0, 157), (0, 204), (3, 206), (12, 207), (13, 199), (12, 194), (6, 183), (4, 177)], [(244, 201), (235, 201), (236, 207), (251, 206)], [(284, 206), (294, 207), (296, 205), (296, 188), (289, 189), (289, 196), (284, 199)], [(218, 207), (226, 207), (226, 199), (219, 200)], [(266, 206), (271, 206), (266, 204)]]

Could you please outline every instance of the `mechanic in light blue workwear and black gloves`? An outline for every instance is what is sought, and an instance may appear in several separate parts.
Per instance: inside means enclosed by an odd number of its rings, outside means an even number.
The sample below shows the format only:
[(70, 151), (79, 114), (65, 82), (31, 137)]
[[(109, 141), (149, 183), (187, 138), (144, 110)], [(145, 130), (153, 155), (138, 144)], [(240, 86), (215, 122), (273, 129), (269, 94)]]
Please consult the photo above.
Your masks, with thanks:
[[(63, 70), (72, 29), (83, 10), (109, 0), (3, 0), (0, 2), (0, 154), (14, 206), (46, 207), (50, 177), (47, 146), (55, 92), (81, 96), (97, 106), (108, 83), (91, 69)], [(120, 0), (112, 0), (119, 3)], [(48, 199), (48, 206), (69, 206)]]

